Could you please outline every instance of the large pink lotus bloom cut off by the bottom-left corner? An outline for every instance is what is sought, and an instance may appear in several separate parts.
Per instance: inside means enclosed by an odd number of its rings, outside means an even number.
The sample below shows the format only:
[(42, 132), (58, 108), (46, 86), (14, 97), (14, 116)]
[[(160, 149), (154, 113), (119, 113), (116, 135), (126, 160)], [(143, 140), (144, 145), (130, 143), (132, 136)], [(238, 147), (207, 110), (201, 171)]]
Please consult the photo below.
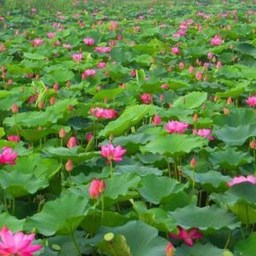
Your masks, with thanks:
[(0, 255), (2, 256), (33, 256), (35, 251), (42, 249), (40, 245), (31, 245), (35, 234), (24, 234), (18, 231), (12, 234), (6, 226), (0, 230)]

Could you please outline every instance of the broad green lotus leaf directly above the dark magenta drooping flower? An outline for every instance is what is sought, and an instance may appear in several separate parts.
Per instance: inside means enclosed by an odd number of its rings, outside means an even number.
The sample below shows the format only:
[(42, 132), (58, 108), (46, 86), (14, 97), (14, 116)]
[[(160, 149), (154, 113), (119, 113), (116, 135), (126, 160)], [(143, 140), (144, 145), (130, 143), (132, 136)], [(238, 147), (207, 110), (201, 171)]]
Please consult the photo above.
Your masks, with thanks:
[(234, 214), (215, 205), (202, 208), (190, 205), (170, 212), (170, 216), (185, 229), (198, 227), (199, 230), (234, 230), (240, 226)]

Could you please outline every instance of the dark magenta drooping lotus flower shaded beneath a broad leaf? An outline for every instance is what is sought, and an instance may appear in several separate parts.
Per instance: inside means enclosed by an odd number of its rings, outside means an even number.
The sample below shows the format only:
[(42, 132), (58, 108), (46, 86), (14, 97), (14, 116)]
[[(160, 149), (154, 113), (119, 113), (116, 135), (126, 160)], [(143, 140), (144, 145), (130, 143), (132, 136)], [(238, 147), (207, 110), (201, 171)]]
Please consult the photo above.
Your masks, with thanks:
[(182, 239), (188, 246), (193, 246), (193, 240), (201, 239), (202, 233), (199, 232), (198, 228), (192, 228), (191, 230), (183, 230), (181, 226), (178, 226), (178, 234), (170, 233), (170, 238)]

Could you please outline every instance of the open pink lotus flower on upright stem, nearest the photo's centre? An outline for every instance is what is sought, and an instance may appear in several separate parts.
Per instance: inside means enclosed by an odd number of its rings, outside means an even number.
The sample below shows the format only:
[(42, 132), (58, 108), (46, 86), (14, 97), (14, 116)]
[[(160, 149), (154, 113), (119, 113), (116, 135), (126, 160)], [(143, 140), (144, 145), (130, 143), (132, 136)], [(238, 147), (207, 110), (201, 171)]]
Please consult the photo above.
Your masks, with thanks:
[(114, 162), (122, 161), (122, 155), (125, 153), (126, 150), (123, 149), (122, 146), (114, 147), (113, 144), (108, 144), (101, 148), (101, 154), (104, 158), (107, 158), (107, 164), (112, 160), (114, 160)]

